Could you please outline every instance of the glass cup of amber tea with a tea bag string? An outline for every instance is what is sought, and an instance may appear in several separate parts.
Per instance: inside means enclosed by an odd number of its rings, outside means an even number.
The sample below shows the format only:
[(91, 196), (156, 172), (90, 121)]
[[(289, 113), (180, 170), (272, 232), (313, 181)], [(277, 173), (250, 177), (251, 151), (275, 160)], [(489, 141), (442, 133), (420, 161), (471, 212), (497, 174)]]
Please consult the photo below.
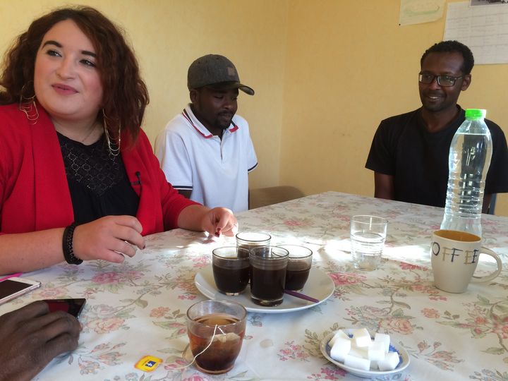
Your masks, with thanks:
[(187, 334), (199, 370), (233, 368), (246, 331), (246, 309), (233, 301), (200, 301), (187, 310)]

